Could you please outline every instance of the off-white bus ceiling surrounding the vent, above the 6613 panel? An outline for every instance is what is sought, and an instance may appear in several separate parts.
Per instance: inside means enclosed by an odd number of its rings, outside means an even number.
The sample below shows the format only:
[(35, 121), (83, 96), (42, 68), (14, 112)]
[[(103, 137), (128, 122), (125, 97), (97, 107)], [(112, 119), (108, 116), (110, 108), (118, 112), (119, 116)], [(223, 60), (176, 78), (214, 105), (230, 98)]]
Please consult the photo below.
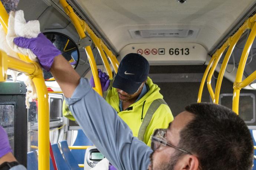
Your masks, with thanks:
[[(76, 0), (114, 48), (134, 43), (198, 43), (207, 52), (255, 0)], [(185, 38), (132, 38), (131, 30), (199, 30)]]

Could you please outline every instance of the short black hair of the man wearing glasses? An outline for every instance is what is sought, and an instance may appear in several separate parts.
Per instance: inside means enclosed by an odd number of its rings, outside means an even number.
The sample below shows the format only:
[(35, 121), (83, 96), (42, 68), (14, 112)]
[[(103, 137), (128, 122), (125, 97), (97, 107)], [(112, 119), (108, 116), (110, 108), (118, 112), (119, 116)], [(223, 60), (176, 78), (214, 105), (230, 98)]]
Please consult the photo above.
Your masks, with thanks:
[(185, 109), (194, 119), (181, 130), (178, 146), (195, 154), (203, 170), (252, 169), (252, 137), (236, 113), (213, 103), (195, 103)]

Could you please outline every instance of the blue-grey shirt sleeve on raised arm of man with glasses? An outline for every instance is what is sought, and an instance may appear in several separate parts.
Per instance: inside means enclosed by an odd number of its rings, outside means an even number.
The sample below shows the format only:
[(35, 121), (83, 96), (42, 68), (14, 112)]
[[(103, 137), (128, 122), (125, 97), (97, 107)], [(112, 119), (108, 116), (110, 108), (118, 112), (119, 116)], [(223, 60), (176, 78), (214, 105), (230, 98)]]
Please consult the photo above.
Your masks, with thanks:
[(65, 98), (85, 135), (118, 170), (145, 170), (152, 150), (132, 135), (116, 111), (81, 78), (71, 98)]

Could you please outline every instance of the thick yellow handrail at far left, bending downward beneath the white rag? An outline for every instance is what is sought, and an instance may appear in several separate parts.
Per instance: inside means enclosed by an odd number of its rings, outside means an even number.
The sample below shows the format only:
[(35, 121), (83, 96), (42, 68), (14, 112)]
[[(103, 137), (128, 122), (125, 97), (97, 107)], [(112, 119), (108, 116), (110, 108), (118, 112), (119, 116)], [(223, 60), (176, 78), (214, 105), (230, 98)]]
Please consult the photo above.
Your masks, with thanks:
[[(0, 1), (0, 24), (4, 31), (7, 33), (8, 18), (3, 4)], [(49, 103), (48, 103), (48, 92), (43, 78), (43, 71), (37, 62), (32, 62), (27, 56), (18, 54), (20, 59), (9, 57), (4, 52), (0, 52), (1, 57), (5, 58), (10, 69), (24, 72), (29, 75), (29, 78), (35, 84), (37, 99), (38, 99), (38, 169), (49, 169), (50, 168), (50, 146), (49, 146), (49, 129), (50, 129), (50, 116), (49, 116)], [(22, 61), (23, 60), (23, 61)], [(7, 63), (2, 63), (6, 65)], [(15, 64), (14, 64), (15, 63)], [(35, 71), (31, 74), (31, 70), (34, 67)], [(0, 70), (0, 72), (3, 70)]]

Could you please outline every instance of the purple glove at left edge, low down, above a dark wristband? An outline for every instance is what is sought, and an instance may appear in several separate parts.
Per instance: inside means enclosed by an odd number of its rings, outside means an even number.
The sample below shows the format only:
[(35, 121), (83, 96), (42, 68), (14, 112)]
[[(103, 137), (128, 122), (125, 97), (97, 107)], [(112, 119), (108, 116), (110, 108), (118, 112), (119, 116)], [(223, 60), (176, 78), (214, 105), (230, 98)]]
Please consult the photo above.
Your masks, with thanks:
[(0, 126), (0, 158), (5, 154), (12, 152), (7, 133), (4, 128)]

